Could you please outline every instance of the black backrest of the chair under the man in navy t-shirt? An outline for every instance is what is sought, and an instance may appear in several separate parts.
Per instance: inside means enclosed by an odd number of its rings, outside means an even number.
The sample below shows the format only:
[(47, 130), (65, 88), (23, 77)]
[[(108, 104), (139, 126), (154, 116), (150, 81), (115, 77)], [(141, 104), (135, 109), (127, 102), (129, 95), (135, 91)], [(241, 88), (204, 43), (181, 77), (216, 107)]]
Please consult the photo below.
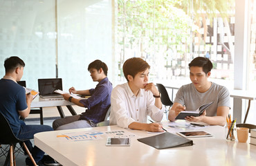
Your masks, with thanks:
[(5, 116), (0, 112), (0, 144), (11, 145), (17, 142), (21, 142), (16, 138), (15, 134), (12, 132), (12, 128)]

